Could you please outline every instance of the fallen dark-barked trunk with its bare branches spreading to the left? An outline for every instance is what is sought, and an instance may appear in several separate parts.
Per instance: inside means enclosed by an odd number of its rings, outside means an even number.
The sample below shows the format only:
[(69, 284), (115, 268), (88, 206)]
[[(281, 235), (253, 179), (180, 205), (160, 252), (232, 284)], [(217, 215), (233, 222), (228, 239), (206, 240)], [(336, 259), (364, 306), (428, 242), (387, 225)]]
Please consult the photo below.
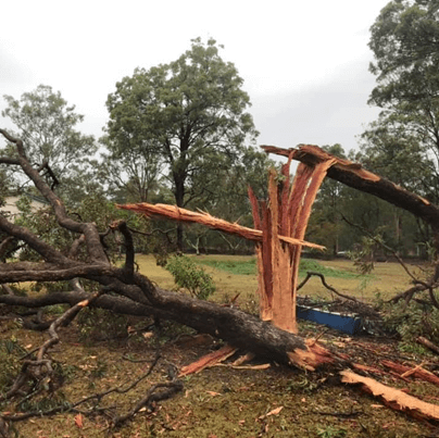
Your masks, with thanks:
[[(67, 254), (41, 240), (29, 229), (15, 225), (0, 216), (0, 230), (9, 237), (24, 241), (39, 256), (39, 262), (12, 261), (0, 265), (0, 283), (16, 281), (76, 281), (76, 288), (68, 293), (50, 293), (38, 298), (0, 296), (0, 303), (24, 306), (43, 306), (48, 303), (76, 303), (89, 295), (77, 284), (77, 279), (87, 279), (104, 288), (104, 293), (92, 305), (103, 306), (120, 313), (156, 315), (174, 320), (197, 330), (220, 337), (236, 347), (252, 350), (256, 354), (273, 360), (293, 363), (298, 366), (314, 368), (321, 363), (331, 362), (330, 353), (306, 345), (300, 336), (287, 334), (268, 323), (237, 309), (223, 308), (214, 303), (195, 300), (153, 285), (148, 277), (135, 271), (133, 236), (124, 222), (113, 223), (110, 230), (121, 233), (125, 241), (125, 264), (123, 267), (110, 263), (96, 224), (81, 223), (68, 216), (62, 200), (40, 175), (40, 168), (34, 167), (26, 158), (24, 145), (5, 130), (0, 133), (16, 147), (17, 158), (3, 157), (0, 163), (21, 166), (40, 193), (50, 202), (59, 225), (77, 235)], [(79, 259), (79, 248), (86, 248), (86, 256)], [(1, 254), (0, 254), (1, 255)], [(4, 259), (4, 256), (3, 256)], [(117, 297), (109, 296), (115, 292)], [(292, 356), (291, 356), (292, 354)]]

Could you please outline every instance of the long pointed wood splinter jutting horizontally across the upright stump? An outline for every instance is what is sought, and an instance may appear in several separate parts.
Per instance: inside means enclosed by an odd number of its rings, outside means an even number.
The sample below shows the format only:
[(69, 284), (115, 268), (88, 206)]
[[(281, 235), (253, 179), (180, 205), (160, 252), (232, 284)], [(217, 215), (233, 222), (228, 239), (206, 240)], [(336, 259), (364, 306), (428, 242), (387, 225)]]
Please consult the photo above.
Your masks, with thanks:
[[(248, 228), (236, 223), (229, 223), (227, 221), (211, 216), (209, 213), (196, 213), (190, 210), (180, 209), (176, 205), (167, 204), (150, 204), (147, 202), (137, 204), (116, 205), (118, 209), (130, 210), (137, 213), (145, 214), (147, 216), (161, 216), (173, 221), (197, 223), (205, 225), (212, 229), (217, 229), (228, 234), (240, 236), (244, 239), (262, 241), (262, 231), (259, 229)], [(315, 248), (324, 250), (325, 247), (321, 245), (311, 243), (304, 240), (294, 239), (292, 237), (279, 236), (279, 239), (291, 245), (301, 245), (304, 247)]]

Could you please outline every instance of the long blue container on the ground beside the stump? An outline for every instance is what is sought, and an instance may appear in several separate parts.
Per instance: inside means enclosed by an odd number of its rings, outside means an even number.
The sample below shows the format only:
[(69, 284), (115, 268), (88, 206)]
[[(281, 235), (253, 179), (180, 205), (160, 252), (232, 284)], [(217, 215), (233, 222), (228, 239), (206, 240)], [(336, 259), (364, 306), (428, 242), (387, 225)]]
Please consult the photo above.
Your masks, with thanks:
[(340, 313), (297, 305), (297, 317), (326, 325), (330, 328), (348, 333), (349, 335), (362, 331), (362, 320), (359, 316), (341, 315)]

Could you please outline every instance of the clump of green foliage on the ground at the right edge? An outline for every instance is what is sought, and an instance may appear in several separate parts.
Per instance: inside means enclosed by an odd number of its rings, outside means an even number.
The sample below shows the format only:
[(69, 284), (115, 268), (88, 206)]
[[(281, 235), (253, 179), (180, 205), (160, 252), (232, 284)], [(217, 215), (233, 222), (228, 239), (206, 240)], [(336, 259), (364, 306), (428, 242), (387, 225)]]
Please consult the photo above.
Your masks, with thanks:
[[(415, 339), (418, 336), (424, 336), (434, 343), (439, 342), (438, 309), (414, 300), (407, 305), (401, 300), (397, 304), (384, 304), (381, 312), (386, 327), (401, 336), (403, 346), (410, 346), (413, 349), (413, 346), (416, 345)], [(419, 349), (418, 346), (416, 347)]]

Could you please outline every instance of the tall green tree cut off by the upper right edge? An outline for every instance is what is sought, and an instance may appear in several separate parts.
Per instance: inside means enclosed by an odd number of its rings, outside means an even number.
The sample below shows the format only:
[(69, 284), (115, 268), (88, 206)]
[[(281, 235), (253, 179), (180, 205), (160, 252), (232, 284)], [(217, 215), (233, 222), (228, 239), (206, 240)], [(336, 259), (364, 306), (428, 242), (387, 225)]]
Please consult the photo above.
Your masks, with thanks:
[(382, 112), (363, 138), (373, 147), (369, 152), (382, 160), (381, 174), (394, 178), (400, 173), (400, 184), (413, 183), (416, 175), (417, 186), (409, 188), (437, 202), (439, 2), (393, 0), (371, 32), (375, 55), (371, 72), (377, 76), (377, 86), (369, 103)]

